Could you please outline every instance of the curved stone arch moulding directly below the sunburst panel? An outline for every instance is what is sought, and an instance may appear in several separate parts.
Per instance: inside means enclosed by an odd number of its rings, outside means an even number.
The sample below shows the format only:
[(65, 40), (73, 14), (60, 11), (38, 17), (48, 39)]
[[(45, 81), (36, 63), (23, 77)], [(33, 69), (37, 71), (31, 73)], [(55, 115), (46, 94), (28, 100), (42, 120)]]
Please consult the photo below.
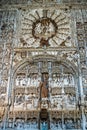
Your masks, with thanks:
[[(37, 55), (37, 56), (33, 56), (31, 58), (27, 58), (25, 60), (22, 60), (21, 62), (19, 62), (15, 67), (14, 67), (14, 76), (16, 74), (16, 72), (21, 68), (21, 67), (25, 67), (27, 65), (31, 65), (31, 69), (32, 67), (35, 67), (34, 66), (34, 61), (44, 61), (44, 59), (46, 58), (46, 60), (48, 59), (48, 61), (52, 61), (52, 62), (57, 62), (58, 64), (61, 64), (61, 65), (64, 65), (66, 66), (68, 69), (70, 69), (70, 71), (73, 73), (73, 74), (78, 74), (78, 69), (76, 67), (76, 65), (73, 63), (73, 62), (70, 62), (69, 60), (67, 59), (64, 59), (64, 58), (57, 58), (56, 56), (53, 56), (53, 55)], [(38, 69), (36, 67), (36, 69)], [(56, 67), (53, 67), (53, 71), (56, 71)]]

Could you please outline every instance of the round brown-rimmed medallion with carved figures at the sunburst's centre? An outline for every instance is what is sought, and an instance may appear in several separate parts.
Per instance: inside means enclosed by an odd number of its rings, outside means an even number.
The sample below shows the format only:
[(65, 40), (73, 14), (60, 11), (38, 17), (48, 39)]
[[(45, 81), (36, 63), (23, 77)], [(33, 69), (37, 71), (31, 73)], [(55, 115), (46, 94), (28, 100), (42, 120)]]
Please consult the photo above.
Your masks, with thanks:
[(57, 25), (54, 20), (50, 18), (41, 18), (33, 23), (32, 34), (34, 38), (41, 39), (41, 46), (48, 46), (48, 40), (55, 36), (57, 32)]

